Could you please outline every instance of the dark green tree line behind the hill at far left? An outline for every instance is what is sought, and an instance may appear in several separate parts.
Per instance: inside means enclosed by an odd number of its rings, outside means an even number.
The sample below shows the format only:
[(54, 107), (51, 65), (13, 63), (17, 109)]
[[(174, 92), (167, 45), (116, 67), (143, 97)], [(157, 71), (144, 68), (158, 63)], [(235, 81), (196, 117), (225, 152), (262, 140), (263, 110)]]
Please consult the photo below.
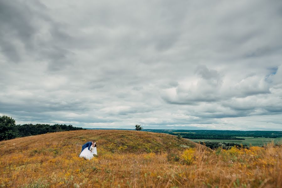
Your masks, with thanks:
[(16, 125), (15, 120), (8, 116), (0, 117), (0, 141), (17, 137), (32, 136), (37, 134), (53, 133), (59, 131), (82, 130), (81, 127), (72, 125), (24, 124)]

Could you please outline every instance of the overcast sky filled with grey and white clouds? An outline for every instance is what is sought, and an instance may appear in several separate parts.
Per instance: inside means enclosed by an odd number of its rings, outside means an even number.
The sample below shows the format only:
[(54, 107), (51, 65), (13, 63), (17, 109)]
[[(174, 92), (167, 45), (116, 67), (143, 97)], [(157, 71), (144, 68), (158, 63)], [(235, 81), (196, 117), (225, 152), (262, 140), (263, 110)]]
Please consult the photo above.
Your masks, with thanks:
[(0, 115), (282, 130), (281, 0), (0, 0)]

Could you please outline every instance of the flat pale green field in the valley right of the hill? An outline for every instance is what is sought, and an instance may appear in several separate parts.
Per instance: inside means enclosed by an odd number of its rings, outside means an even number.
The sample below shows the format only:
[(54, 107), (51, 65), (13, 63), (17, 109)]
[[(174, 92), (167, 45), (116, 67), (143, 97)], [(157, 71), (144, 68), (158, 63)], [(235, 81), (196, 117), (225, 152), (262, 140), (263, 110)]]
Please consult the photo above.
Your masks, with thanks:
[(237, 144), (252, 144), (253, 146), (263, 146), (264, 144), (268, 142), (274, 141), (275, 144), (282, 144), (282, 138), (253, 138), (253, 137), (238, 137), (238, 138), (245, 138), (245, 140), (211, 140), (211, 139), (189, 139), (193, 142), (204, 142), (204, 141), (210, 141), (210, 142), (231, 142), (231, 143), (237, 143)]

